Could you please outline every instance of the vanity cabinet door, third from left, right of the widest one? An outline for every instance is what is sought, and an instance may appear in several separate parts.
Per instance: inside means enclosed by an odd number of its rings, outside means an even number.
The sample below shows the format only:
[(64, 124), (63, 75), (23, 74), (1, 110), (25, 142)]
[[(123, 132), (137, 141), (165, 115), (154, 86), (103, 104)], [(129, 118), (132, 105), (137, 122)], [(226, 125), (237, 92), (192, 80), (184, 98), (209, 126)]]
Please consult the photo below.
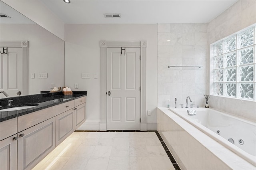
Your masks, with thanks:
[(75, 131), (74, 108), (56, 116), (56, 146)]

